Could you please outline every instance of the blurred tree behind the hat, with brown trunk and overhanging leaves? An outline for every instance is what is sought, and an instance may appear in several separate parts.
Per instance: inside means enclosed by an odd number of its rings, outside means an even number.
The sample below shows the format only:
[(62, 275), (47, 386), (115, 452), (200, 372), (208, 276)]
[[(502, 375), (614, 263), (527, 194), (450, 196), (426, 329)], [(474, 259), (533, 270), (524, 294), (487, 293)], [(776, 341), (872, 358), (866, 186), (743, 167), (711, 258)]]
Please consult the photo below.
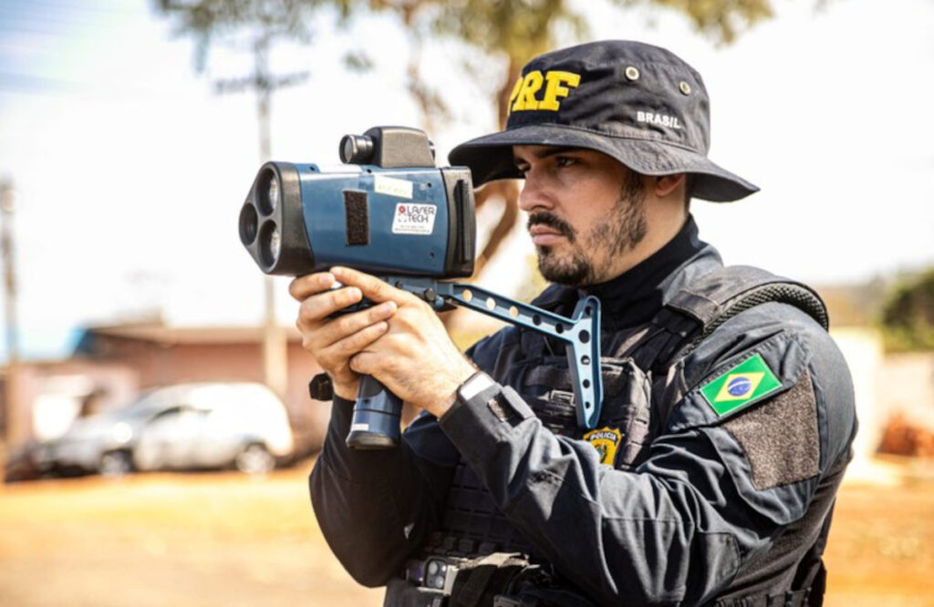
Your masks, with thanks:
[[(703, 35), (717, 44), (729, 44), (744, 29), (771, 17), (771, 0), (608, 0), (620, 9), (661, 7), (682, 13)], [(826, 2), (827, 0), (818, 0)], [(342, 22), (361, 12), (395, 15), (412, 41), (407, 87), (421, 109), (424, 124), (433, 131), (435, 120), (447, 120), (443, 96), (419, 72), (424, 40), (447, 36), (460, 40), (502, 64), (496, 99), (499, 127), (507, 118), (509, 93), (522, 65), (532, 56), (552, 49), (559, 32), (575, 39), (587, 37), (583, 9), (572, 0), (154, 0), (158, 11), (175, 22), (176, 31), (197, 42), (196, 66), (202, 69), (210, 44), (238, 31), (260, 31), (268, 36), (309, 41), (308, 22), (323, 7), (337, 10)], [(351, 68), (366, 67), (368, 58), (348, 54)], [(469, 70), (467, 70), (469, 73)], [(518, 217), (515, 181), (490, 183), (477, 192), (478, 207), (490, 200), (504, 202), (502, 217), (477, 255), (476, 272), (496, 254)]]

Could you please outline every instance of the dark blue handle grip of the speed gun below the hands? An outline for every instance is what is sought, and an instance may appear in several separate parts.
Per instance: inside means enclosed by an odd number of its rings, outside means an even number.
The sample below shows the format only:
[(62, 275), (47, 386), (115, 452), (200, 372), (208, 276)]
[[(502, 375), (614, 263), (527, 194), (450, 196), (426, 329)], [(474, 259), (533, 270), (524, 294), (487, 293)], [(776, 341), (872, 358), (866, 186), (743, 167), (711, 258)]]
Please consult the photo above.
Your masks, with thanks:
[(370, 375), (364, 375), (353, 407), (347, 446), (351, 449), (390, 449), (399, 445), (402, 400)]

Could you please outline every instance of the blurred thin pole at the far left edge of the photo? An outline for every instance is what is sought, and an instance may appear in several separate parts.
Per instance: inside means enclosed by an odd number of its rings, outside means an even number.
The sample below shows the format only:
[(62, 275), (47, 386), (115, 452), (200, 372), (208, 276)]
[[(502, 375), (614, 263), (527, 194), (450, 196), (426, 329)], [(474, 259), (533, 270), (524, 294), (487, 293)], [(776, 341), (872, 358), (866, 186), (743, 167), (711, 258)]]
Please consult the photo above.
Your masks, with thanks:
[(20, 334), (16, 311), (16, 264), (13, 260), (13, 184), (7, 179), (0, 183), (0, 213), (3, 225), (0, 230), (0, 253), (4, 268), (4, 310), (6, 312), (7, 378), (4, 382), (4, 401), (7, 405), (7, 449), (20, 445), (25, 440), (23, 415), (19, 398)]

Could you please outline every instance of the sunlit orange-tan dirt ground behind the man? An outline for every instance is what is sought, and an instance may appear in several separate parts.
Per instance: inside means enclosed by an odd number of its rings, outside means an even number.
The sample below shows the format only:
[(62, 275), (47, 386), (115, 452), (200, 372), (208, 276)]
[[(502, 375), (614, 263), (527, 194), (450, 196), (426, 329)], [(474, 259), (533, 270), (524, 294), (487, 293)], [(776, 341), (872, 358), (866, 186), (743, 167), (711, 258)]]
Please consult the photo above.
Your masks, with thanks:
[[(321, 537), (310, 465), (0, 486), (0, 605), (380, 605)], [(845, 485), (827, 560), (830, 607), (934, 607), (934, 481)]]

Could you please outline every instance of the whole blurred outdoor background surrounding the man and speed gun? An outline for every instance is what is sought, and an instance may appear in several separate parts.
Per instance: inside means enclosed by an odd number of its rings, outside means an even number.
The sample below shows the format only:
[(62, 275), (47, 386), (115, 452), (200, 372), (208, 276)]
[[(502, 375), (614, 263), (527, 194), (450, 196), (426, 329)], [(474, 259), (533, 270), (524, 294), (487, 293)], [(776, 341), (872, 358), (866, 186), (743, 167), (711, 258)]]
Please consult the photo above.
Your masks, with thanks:
[[(934, 605), (932, 32), (929, 0), (0, 2), (0, 604), (381, 604), (311, 513), (329, 405), (240, 205), (377, 124), (442, 161), (532, 55), (629, 38), (701, 72), (762, 189), (701, 237), (814, 285), (853, 371), (828, 604)], [(517, 189), (478, 192), (474, 279), (528, 300)]]

